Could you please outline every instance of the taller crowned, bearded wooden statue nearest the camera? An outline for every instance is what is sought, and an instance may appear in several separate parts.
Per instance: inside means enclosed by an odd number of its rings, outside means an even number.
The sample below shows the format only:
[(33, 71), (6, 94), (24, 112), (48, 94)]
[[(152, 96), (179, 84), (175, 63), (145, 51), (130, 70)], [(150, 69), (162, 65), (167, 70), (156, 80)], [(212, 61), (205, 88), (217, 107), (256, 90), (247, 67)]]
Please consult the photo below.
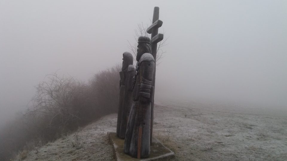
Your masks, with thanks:
[(152, 79), (155, 59), (150, 54), (150, 39), (138, 38), (136, 72), (133, 78), (133, 103), (126, 128), (124, 152), (132, 157), (144, 158), (150, 154), (150, 119), (154, 87)]

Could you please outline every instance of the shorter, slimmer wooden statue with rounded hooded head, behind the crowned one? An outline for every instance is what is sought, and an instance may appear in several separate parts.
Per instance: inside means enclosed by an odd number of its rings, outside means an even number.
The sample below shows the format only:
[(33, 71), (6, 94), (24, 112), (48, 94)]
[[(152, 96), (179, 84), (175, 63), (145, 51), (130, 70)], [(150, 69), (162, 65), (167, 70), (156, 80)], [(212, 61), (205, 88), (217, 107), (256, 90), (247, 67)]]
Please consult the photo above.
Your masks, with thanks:
[(132, 106), (132, 81), (135, 75), (132, 54), (123, 53), (123, 66), (120, 72), (120, 96), (119, 110), (117, 113), (117, 137), (124, 139), (126, 134), (126, 124)]

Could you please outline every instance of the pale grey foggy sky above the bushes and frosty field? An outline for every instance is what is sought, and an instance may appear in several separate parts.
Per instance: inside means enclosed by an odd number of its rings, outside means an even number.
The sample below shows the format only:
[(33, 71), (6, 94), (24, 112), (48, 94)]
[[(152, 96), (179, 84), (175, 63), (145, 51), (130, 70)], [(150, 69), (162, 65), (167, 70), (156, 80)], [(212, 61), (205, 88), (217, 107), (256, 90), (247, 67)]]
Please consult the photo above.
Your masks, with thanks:
[(47, 74), (88, 82), (122, 62), (160, 7), (156, 96), (287, 109), (287, 1), (0, 1), (0, 125)]

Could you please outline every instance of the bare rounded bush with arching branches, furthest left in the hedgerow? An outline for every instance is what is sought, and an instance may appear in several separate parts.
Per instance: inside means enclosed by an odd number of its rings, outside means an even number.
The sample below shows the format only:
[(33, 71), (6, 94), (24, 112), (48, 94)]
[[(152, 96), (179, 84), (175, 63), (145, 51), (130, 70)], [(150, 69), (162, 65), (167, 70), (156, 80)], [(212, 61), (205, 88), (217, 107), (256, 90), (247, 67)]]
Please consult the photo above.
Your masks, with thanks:
[[(71, 129), (75, 126), (77, 112), (73, 109), (72, 101), (79, 90), (80, 83), (72, 77), (59, 77), (56, 73), (48, 75), (48, 79), (36, 86), (36, 95), (32, 99), (33, 106), (25, 115), (37, 120), (33, 126), (40, 126), (44, 131), (41, 135), (55, 136), (61, 131)], [(44, 124), (44, 125), (43, 125)], [(44, 128), (45, 127), (45, 128)], [(54, 139), (48, 137), (48, 139)]]

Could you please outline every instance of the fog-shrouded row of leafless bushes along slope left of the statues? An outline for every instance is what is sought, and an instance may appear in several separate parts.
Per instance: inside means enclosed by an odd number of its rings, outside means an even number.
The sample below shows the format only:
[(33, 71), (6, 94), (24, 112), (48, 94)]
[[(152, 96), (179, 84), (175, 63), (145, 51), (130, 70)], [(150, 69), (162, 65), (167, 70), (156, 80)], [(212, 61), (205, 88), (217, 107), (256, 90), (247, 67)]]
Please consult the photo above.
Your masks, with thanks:
[[(30, 106), (0, 129), (0, 160), (67, 135), (105, 114), (117, 112), (120, 65), (94, 75), (89, 83), (47, 75)], [(15, 100), (17, 101), (17, 100)]]

